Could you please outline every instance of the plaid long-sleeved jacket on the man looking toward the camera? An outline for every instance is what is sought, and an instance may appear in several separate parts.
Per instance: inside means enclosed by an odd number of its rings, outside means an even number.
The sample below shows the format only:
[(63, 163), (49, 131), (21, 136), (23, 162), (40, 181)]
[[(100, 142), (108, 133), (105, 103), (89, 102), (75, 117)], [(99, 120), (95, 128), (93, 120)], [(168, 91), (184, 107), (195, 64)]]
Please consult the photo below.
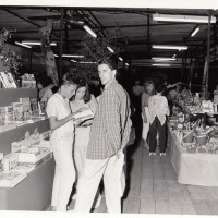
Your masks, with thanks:
[(129, 95), (112, 80), (100, 96), (93, 120), (87, 159), (105, 159), (116, 155), (126, 145), (131, 125)]

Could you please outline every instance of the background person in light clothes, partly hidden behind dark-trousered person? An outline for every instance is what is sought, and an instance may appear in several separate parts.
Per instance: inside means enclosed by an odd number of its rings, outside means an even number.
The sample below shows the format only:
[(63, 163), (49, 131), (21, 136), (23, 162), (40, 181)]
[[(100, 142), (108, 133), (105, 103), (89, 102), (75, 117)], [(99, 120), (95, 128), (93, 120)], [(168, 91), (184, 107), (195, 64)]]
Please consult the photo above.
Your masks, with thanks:
[(145, 92), (142, 94), (142, 118), (143, 118), (143, 132), (142, 138), (144, 141), (144, 147), (148, 148), (147, 135), (149, 131), (149, 111), (148, 111), (148, 98), (155, 94), (155, 85), (153, 81), (146, 81)]

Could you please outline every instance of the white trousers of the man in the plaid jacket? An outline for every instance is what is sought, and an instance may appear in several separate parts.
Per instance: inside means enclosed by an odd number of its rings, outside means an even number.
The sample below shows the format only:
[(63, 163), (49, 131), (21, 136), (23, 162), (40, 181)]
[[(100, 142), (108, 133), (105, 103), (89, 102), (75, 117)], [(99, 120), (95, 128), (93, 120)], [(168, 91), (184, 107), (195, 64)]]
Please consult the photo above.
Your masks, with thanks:
[(89, 213), (100, 180), (104, 175), (106, 205), (109, 213), (121, 213), (121, 197), (119, 195), (119, 180), (116, 178), (117, 156), (106, 159), (85, 159), (84, 174), (77, 190), (74, 211)]

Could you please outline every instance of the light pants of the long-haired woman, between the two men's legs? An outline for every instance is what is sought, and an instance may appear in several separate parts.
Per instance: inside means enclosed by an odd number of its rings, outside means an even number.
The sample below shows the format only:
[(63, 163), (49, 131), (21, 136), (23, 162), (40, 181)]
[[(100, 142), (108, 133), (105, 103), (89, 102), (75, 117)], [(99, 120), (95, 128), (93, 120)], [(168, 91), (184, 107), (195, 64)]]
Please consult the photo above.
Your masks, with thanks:
[(86, 150), (89, 142), (90, 126), (76, 128), (74, 141), (74, 160), (77, 172), (77, 185), (83, 174)]

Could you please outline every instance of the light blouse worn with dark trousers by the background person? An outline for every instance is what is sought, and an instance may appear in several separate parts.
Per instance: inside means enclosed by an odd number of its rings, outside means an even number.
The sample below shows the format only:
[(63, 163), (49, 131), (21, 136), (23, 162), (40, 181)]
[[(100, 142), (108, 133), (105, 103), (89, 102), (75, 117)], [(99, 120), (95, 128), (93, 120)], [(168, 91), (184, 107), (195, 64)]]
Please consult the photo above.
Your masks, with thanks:
[(168, 101), (165, 96), (154, 95), (148, 99), (148, 110), (150, 113), (149, 122), (153, 123), (155, 117), (160, 121), (160, 124), (164, 125), (166, 122), (166, 116), (169, 114)]

